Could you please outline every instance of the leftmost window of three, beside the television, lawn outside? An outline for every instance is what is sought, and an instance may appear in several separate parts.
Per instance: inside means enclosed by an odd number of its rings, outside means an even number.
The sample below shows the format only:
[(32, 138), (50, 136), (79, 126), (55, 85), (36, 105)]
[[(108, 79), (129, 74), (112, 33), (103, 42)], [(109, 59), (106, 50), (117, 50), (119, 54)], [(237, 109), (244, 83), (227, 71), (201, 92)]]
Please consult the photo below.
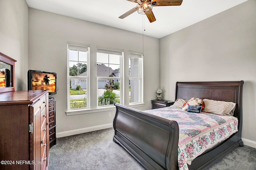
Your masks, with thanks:
[(68, 42), (68, 109), (89, 107), (89, 48)]

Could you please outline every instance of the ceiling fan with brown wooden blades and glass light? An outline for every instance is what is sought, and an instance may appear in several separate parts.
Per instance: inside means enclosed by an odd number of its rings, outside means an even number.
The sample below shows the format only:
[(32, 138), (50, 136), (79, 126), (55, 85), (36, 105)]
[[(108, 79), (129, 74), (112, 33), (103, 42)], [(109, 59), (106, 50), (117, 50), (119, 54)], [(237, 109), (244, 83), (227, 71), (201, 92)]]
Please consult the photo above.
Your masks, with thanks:
[(137, 6), (130, 11), (124, 13), (118, 18), (124, 19), (126, 16), (138, 11), (139, 14), (146, 14), (149, 22), (156, 21), (156, 18), (152, 12), (153, 6), (178, 6), (181, 5), (182, 0), (128, 0), (130, 2), (137, 3)]

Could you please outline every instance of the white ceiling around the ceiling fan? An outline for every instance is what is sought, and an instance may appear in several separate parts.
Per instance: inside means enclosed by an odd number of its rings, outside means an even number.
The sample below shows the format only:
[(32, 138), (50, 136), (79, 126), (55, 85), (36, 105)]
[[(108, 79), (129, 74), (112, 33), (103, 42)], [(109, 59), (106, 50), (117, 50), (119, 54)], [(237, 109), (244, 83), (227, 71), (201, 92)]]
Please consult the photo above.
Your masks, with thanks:
[(124, 19), (118, 18), (136, 7), (136, 3), (128, 0), (26, 0), (30, 8), (143, 33), (154, 38), (167, 36), (245, 1), (183, 0), (180, 6), (154, 6), (152, 10), (156, 21), (150, 23), (146, 16), (137, 12)]

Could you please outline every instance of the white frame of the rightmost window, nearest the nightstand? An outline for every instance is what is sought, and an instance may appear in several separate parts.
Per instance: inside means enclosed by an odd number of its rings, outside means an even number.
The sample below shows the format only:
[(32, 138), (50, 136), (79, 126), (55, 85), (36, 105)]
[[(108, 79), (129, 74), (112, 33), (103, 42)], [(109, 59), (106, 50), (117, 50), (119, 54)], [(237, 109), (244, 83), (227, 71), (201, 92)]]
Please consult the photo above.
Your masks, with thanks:
[[(143, 103), (143, 53), (129, 50), (129, 60), (132, 57), (138, 58), (138, 60), (139, 60), (139, 63), (138, 63), (139, 76), (138, 77), (130, 77), (130, 75), (129, 75), (128, 83), (130, 83), (130, 80), (138, 80), (139, 81), (139, 94), (138, 94), (139, 95), (139, 101), (131, 102), (131, 103), (129, 101), (129, 105), (135, 105), (135, 104)], [(129, 67), (130, 67), (130, 65), (129, 65)]]

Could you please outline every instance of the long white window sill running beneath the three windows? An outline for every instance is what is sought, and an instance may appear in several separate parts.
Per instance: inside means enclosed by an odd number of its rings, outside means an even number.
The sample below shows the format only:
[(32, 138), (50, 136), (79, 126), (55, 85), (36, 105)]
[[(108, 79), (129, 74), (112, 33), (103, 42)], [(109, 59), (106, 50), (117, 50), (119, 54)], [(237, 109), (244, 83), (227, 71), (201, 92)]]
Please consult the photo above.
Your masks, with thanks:
[[(136, 104), (131, 104), (128, 107), (142, 107), (144, 106), (144, 103), (136, 103)], [(67, 116), (71, 115), (80, 115), (80, 114), (86, 114), (86, 113), (97, 113), (97, 112), (104, 112), (104, 111), (115, 111), (116, 107), (114, 105), (108, 106), (108, 107), (101, 107), (101, 108), (96, 108), (96, 109), (76, 109), (76, 110), (70, 110), (66, 111)]]

